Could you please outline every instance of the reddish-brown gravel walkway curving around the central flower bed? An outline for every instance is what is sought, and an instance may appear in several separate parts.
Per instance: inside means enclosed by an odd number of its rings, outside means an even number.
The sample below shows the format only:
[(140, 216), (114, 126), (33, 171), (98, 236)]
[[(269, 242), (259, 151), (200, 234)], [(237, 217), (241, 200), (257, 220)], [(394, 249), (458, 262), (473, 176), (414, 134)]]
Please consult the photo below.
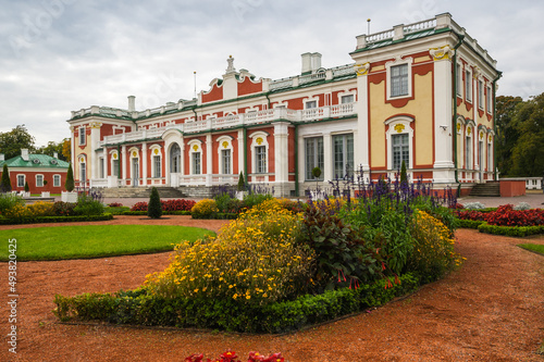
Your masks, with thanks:
[[(163, 222), (193, 222), (183, 217)], [(144, 223), (116, 223), (131, 221)], [(0, 360), (183, 361), (196, 351), (217, 358), (231, 348), (244, 358), (251, 350), (281, 351), (290, 362), (544, 361), (535, 353), (544, 341), (544, 257), (516, 247), (527, 240), (467, 229), (457, 239), (468, 260), (443, 280), (370, 313), (285, 336), (57, 323), (55, 294), (135, 288), (166, 266), (169, 253), (20, 263), (16, 357), (8, 352), (8, 266), (1, 263)], [(531, 242), (544, 244), (544, 237)]]

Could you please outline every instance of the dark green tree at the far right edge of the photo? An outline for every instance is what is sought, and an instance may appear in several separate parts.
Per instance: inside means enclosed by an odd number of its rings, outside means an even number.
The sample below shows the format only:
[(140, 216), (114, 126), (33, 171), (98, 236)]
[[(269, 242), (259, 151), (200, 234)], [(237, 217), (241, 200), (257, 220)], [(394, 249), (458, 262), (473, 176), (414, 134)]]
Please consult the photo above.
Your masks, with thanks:
[(516, 107), (514, 125), (520, 136), (512, 148), (511, 176), (542, 176), (544, 173), (544, 93)]

